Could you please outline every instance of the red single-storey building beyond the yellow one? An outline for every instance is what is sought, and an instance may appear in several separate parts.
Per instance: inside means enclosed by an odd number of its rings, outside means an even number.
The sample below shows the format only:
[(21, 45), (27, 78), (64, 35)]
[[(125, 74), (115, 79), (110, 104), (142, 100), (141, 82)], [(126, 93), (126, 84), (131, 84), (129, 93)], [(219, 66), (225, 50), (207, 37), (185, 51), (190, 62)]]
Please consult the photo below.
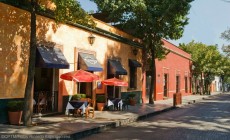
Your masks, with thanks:
[[(191, 55), (174, 44), (163, 40), (164, 47), (170, 52), (163, 60), (156, 60), (156, 93), (154, 100), (172, 98), (174, 93), (182, 96), (190, 95), (191, 91)], [(148, 102), (151, 76), (146, 74), (146, 93), (144, 102)], [(145, 83), (144, 83), (145, 84)], [(146, 95), (145, 95), (146, 94)]]

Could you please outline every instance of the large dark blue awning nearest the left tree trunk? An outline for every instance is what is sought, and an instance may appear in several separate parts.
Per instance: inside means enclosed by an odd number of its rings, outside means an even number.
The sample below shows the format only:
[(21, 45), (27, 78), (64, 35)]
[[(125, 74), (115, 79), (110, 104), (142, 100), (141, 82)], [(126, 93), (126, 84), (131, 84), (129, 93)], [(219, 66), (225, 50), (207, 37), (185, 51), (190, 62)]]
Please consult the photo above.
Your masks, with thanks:
[(69, 63), (59, 48), (40, 45), (36, 52), (36, 67), (68, 69)]

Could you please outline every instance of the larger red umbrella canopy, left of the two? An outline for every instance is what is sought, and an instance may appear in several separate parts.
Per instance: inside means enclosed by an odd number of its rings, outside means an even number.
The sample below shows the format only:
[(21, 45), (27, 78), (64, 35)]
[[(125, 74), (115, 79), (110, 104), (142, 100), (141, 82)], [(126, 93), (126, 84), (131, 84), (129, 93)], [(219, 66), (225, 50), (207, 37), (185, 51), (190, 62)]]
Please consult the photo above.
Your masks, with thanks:
[(84, 70), (77, 70), (62, 74), (61, 79), (76, 82), (93, 82), (98, 80), (99, 76)]

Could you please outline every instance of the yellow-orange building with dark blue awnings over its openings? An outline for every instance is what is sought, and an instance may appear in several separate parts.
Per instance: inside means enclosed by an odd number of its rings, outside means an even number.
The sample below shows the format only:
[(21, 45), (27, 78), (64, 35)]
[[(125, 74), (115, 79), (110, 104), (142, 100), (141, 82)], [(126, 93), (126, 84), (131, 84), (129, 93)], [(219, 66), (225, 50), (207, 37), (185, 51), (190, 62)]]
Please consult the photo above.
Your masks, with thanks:
[[(129, 83), (116, 88), (116, 97), (136, 92), (141, 97), (141, 46), (134, 38), (113, 26), (95, 19), (96, 29), (78, 24), (56, 24), (37, 14), (37, 54), (34, 99), (42, 91), (49, 96), (51, 112), (64, 112), (70, 95), (85, 93), (111, 96), (113, 87), (100, 85), (102, 80), (117, 77)], [(28, 72), (30, 13), (26, 8), (0, 2), (0, 120), (6, 116), (5, 104), (24, 98)], [(95, 37), (90, 44), (90, 37)], [(137, 49), (137, 54), (133, 50)], [(91, 65), (89, 64), (91, 62)], [(84, 69), (99, 75), (92, 83), (74, 83), (60, 75)], [(121, 95), (120, 95), (121, 94)], [(4, 121), (3, 121), (4, 122)]]

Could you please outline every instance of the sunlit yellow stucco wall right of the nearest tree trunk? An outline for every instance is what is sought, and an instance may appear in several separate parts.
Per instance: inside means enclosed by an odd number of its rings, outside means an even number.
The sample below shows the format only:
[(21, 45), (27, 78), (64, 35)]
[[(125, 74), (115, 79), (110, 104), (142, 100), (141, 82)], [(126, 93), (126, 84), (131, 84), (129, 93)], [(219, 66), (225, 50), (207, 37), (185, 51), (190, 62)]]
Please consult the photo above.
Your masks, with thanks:
[[(60, 74), (73, 71), (77, 69), (77, 52), (79, 51), (88, 51), (95, 53), (95, 56), (98, 62), (103, 67), (103, 72), (95, 72), (95, 74), (100, 76), (100, 80), (106, 79), (107, 73), (107, 59), (111, 57), (119, 57), (121, 58), (121, 63), (124, 68), (129, 73), (129, 65), (128, 59), (137, 59), (141, 62), (141, 54), (140, 51), (137, 56), (134, 56), (132, 53), (132, 47), (111, 40), (107, 37), (93, 34), (95, 36), (95, 42), (93, 45), (90, 45), (88, 42), (88, 37), (91, 32), (85, 31), (70, 25), (59, 24), (56, 25), (53, 20), (48, 18), (38, 16), (38, 40), (43, 42), (54, 42), (58, 45), (61, 45), (63, 48), (63, 53), (70, 63), (70, 69), (60, 70)], [(138, 68), (138, 81), (141, 79), (141, 70)], [(123, 80), (129, 82), (129, 76), (121, 76)], [(62, 80), (60, 79), (60, 82)], [(67, 90), (63, 90), (63, 94), (71, 94), (72, 85), (71, 82), (63, 81), (65, 88)], [(138, 90), (141, 90), (141, 83), (138, 82)], [(121, 91), (127, 91), (126, 87), (122, 87)]]

